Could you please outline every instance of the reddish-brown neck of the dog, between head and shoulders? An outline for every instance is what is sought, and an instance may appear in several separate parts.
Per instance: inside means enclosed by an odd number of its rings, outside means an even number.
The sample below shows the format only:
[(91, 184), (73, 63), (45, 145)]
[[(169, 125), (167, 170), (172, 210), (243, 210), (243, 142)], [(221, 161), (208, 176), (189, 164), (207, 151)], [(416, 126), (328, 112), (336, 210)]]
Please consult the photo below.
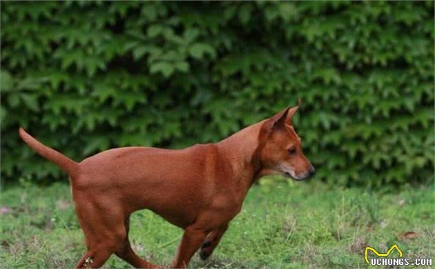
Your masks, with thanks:
[(216, 143), (220, 154), (229, 161), (233, 179), (249, 188), (262, 169), (259, 135), (264, 121), (255, 123)]

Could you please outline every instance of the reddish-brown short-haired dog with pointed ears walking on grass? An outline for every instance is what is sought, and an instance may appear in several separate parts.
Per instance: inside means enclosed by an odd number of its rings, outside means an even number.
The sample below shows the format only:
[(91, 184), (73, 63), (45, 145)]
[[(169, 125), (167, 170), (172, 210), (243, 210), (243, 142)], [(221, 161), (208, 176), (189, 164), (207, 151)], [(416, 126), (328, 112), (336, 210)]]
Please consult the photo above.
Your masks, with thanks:
[(184, 229), (171, 265), (184, 268), (200, 246), (202, 259), (211, 255), (253, 181), (276, 173), (302, 180), (314, 173), (291, 126), (297, 110), (287, 108), (218, 143), (184, 150), (115, 148), (80, 163), (22, 128), (19, 135), (70, 176), (87, 247), (76, 268), (100, 267), (113, 253), (138, 268), (156, 267), (128, 241), (130, 215), (144, 208)]

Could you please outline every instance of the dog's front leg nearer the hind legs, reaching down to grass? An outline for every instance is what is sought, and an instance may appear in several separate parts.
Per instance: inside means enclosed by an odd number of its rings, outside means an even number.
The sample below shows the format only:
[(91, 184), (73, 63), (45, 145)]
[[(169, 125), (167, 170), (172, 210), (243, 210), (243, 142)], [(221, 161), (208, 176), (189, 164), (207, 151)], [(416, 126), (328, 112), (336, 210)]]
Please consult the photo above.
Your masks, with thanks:
[(187, 268), (191, 257), (200, 248), (202, 241), (206, 237), (206, 232), (194, 225), (184, 230), (182, 241), (178, 246), (177, 256), (172, 262), (171, 268)]

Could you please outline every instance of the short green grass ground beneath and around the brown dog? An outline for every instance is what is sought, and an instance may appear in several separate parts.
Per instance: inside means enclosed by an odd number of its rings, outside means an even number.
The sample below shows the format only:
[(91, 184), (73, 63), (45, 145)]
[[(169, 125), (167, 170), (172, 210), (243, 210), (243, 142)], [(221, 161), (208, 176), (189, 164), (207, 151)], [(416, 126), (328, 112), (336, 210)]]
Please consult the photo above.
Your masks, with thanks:
[[(3, 268), (71, 268), (85, 252), (66, 183), (8, 187), (1, 206)], [(434, 223), (434, 186), (383, 192), (266, 180), (212, 257), (195, 255), (190, 268), (367, 268), (366, 246), (386, 252), (394, 243), (404, 257), (435, 258)], [(131, 219), (133, 248), (157, 264), (171, 263), (181, 235), (147, 210)], [(131, 268), (115, 255), (105, 267)]]

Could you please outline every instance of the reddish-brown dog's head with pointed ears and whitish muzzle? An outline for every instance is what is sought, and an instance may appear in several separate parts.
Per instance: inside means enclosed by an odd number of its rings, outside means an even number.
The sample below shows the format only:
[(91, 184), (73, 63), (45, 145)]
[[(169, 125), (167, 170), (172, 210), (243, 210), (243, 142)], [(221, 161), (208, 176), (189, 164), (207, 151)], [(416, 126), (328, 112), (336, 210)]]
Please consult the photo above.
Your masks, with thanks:
[(260, 131), (260, 158), (264, 175), (282, 174), (296, 180), (307, 179), (316, 171), (302, 152), (302, 141), (291, 125), (298, 106), (282, 110), (267, 119)]

